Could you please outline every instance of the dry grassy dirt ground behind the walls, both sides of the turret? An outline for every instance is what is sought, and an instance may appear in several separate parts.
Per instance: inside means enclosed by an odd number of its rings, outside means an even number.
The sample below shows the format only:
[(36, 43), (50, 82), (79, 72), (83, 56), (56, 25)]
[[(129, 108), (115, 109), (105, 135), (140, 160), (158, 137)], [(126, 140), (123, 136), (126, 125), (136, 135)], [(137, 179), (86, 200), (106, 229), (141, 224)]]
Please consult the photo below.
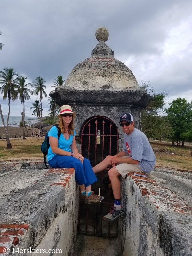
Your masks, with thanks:
[[(12, 149), (6, 148), (6, 141), (0, 140), (0, 160), (16, 160), (29, 158), (43, 158), (41, 153), (41, 144), (43, 138), (27, 137), (26, 140), (11, 139)], [(186, 143), (186, 146), (173, 147), (170, 142), (150, 141), (151, 147), (156, 156), (156, 165), (165, 167), (181, 168), (192, 170), (192, 144)]]

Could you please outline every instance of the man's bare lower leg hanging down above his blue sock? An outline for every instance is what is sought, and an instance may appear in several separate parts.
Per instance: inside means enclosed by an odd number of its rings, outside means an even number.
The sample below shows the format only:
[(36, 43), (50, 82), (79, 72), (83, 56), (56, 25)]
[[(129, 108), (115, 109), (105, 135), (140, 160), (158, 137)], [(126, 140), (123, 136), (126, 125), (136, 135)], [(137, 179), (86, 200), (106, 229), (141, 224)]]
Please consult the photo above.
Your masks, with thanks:
[(121, 185), (118, 176), (120, 173), (115, 167), (108, 171), (109, 179), (111, 180), (111, 185), (113, 189), (113, 195), (115, 199), (121, 199)]

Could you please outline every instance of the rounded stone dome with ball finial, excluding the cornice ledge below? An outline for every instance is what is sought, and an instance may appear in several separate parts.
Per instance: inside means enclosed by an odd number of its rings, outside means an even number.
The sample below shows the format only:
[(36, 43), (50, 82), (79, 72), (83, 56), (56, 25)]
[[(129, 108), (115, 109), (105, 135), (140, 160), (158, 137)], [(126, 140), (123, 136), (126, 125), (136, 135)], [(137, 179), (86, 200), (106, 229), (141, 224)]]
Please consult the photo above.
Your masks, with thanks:
[(107, 28), (98, 28), (96, 38), (99, 43), (92, 50), (91, 57), (72, 69), (64, 87), (77, 90), (138, 89), (139, 85), (131, 70), (124, 63), (116, 60), (114, 52), (106, 45)]

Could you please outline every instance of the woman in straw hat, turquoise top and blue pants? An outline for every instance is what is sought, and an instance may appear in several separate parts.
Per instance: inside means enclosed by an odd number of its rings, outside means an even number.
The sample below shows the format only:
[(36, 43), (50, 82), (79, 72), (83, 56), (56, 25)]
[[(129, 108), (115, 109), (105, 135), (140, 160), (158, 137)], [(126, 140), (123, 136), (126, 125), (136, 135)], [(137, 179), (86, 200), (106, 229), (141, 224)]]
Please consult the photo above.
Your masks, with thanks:
[(104, 197), (97, 196), (91, 191), (91, 184), (97, 181), (91, 164), (88, 159), (78, 153), (76, 147), (73, 129), (75, 113), (72, 112), (71, 106), (61, 106), (58, 117), (58, 125), (61, 129), (59, 139), (56, 126), (53, 126), (48, 133), (50, 147), (47, 160), (49, 165), (53, 168), (75, 168), (75, 178), (80, 187), (80, 199), (85, 200), (86, 204), (101, 202)]

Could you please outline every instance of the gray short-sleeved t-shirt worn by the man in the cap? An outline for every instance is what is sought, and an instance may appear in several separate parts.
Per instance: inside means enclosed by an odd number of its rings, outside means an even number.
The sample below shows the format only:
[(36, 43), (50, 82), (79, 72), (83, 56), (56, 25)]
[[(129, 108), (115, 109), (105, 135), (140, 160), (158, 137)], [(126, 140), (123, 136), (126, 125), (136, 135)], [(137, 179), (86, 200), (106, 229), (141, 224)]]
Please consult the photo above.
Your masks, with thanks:
[(155, 154), (146, 135), (134, 128), (131, 134), (124, 135), (123, 151), (132, 159), (139, 161), (139, 166), (145, 173), (153, 170), (156, 163)]

